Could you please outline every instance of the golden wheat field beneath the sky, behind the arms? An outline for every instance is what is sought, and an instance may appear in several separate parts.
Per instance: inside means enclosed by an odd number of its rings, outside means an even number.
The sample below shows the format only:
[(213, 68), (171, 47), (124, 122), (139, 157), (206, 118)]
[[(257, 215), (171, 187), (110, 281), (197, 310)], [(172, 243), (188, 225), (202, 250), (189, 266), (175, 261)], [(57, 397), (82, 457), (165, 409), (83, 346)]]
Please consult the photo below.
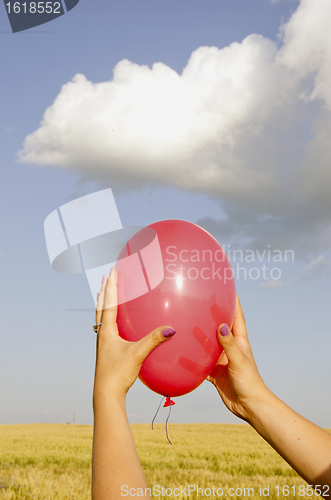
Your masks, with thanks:
[[(131, 428), (154, 498), (308, 498), (306, 483), (248, 425), (170, 424), (173, 446), (162, 424)], [(0, 426), (0, 499), (90, 499), (91, 448), (91, 426)]]

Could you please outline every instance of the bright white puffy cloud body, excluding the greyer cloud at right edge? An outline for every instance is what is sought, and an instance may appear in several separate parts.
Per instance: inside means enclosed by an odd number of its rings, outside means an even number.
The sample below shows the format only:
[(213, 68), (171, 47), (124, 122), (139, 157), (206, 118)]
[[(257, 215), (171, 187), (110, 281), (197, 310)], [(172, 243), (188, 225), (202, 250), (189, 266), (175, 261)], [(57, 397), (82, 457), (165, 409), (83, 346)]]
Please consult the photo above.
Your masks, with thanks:
[(184, 189), (270, 189), (271, 171), (247, 169), (236, 143), (245, 131), (259, 134), (281, 94), (276, 52), (251, 35), (221, 50), (200, 47), (181, 75), (128, 60), (110, 82), (76, 75), (26, 138), (20, 160)]

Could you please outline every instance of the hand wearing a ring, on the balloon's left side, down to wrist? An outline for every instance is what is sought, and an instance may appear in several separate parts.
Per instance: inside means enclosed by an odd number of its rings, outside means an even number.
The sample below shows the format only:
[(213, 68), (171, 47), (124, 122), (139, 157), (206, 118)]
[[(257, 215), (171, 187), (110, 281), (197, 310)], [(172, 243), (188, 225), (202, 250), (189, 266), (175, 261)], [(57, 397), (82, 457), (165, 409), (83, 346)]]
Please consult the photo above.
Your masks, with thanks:
[(116, 318), (117, 272), (113, 268), (109, 278), (104, 277), (96, 311), (96, 323), (102, 325), (97, 335), (94, 402), (104, 390), (125, 397), (148, 354), (175, 334), (172, 328), (161, 326), (138, 342), (128, 342), (119, 336)]

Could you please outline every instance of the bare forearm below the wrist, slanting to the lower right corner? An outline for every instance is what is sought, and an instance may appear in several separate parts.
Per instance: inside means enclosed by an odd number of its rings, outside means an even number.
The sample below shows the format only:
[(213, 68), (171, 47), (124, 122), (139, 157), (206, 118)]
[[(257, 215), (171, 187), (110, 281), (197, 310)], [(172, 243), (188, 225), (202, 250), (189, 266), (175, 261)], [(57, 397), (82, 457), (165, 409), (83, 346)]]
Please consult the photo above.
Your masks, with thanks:
[(331, 435), (327, 431), (269, 390), (249, 414), (248, 422), (308, 484), (331, 486)]

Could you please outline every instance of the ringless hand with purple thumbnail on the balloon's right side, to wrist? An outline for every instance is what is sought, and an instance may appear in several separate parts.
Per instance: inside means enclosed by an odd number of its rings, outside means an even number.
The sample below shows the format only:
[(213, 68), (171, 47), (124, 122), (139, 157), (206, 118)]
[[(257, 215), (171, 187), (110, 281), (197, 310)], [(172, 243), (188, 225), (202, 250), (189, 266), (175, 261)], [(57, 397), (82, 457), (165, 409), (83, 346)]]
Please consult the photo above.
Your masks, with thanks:
[(224, 351), (207, 380), (215, 385), (227, 408), (248, 421), (270, 391), (257, 369), (238, 295), (232, 332), (223, 324), (218, 327), (217, 336)]

